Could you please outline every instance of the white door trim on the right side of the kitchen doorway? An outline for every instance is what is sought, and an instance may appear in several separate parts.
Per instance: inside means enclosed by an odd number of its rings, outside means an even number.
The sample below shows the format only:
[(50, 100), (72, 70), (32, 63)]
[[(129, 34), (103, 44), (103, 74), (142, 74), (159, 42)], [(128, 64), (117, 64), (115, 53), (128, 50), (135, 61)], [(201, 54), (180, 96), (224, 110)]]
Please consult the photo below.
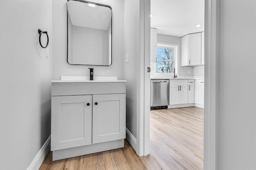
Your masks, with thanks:
[(219, 0), (205, 1), (204, 169), (218, 169)]

